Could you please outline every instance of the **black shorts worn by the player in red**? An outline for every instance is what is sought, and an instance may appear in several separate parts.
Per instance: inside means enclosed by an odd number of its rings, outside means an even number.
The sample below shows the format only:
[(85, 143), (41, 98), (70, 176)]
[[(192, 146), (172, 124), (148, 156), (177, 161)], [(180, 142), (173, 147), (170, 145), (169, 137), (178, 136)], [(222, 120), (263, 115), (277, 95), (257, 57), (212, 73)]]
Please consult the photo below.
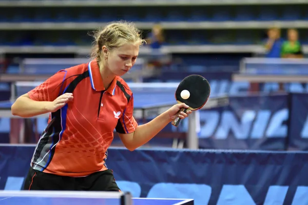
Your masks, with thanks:
[(24, 190), (120, 191), (112, 170), (95, 172), (85, 177), (59, 176), (29, 169)]

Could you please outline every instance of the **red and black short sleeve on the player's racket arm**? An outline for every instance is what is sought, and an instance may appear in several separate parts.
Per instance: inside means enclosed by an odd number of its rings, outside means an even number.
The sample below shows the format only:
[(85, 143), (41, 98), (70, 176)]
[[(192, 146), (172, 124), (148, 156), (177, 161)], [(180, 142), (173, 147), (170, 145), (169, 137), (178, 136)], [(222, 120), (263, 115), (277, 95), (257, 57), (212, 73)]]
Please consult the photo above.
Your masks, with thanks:
[(131, 94), (126, 109), (118, 120), (115, 130), (121, 134), (132, 133), (138, 126), (137, 121), (133, 117), (133, 95)]

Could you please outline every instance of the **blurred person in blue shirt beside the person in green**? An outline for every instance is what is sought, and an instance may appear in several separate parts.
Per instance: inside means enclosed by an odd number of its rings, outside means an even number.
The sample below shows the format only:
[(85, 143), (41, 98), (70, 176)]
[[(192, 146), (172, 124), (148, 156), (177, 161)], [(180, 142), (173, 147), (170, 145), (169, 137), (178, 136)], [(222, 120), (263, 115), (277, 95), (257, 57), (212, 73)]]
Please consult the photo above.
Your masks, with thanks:
[(267, 40), (265, 43), (266, 57), (280, 58), (283, 40), (280, 37), (280, 29), (277, 27), (267, 30)]

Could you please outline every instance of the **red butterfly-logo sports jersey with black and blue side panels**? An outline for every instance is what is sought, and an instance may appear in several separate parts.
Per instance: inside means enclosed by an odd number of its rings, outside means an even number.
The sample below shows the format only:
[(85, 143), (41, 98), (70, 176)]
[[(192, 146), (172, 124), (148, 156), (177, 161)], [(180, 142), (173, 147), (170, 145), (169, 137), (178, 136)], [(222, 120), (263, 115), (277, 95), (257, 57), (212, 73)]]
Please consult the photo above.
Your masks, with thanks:
[(96, 60), (61, 70), (28, 92), (37, 101), (53, 101), (64, 93), (73, 93), (73, 101), (50, 114), (31, 167), (63, 176), (106, 170), (114, 129), (131, 133), (137, 127), (132, 92), (121, 77), (105, 90)]

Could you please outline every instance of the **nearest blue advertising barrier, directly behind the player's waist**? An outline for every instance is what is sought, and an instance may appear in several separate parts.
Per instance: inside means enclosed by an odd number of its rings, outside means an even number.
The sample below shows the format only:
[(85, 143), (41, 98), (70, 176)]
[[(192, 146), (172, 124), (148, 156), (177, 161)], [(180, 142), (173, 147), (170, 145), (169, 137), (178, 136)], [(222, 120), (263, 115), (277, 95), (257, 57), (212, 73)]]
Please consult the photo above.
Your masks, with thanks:
[[(0, 146), (0, 189), (20, 190), (34, 146)], [(308, 152), (109, 149), (107, 166), (134, 197), (196, 205), (308, 203)]]

